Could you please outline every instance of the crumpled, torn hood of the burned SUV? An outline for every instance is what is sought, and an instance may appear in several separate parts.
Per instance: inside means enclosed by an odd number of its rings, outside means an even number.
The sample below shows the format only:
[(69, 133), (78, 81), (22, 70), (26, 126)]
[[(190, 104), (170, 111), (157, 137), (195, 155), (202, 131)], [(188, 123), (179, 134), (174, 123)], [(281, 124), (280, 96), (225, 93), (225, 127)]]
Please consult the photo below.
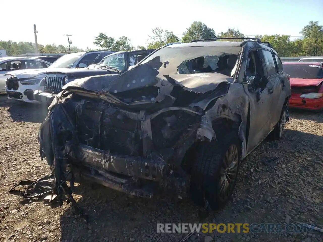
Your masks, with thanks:
[(210, 99), (210, 96), (225, 95), (233, 83), (233, 78), (217, 72), (161, 75), (159, 69), (167, 68), (166, 64), (156, 56), (121, 75), (85, 77), (68, 83), (64, 89), (93, 92), (102, 99), (133, 110), (135, 106), (145, 109), (145, 106), (149, 108), (156, 104), (160, 107), (190, 106)]

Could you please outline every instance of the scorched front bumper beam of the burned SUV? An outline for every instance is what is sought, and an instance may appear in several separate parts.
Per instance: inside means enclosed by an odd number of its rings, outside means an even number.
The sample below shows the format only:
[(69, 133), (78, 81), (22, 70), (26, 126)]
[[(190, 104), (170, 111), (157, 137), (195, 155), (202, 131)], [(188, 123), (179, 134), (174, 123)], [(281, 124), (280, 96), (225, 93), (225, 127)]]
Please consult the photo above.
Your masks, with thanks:
[(76, 181), (95, 182), (137, 197), (150, 198), (167, 189), (186, 197), (185, 179), (169, 176), (170, 166), (161, 157), (123, 156), (79, 144), (70, 153)]

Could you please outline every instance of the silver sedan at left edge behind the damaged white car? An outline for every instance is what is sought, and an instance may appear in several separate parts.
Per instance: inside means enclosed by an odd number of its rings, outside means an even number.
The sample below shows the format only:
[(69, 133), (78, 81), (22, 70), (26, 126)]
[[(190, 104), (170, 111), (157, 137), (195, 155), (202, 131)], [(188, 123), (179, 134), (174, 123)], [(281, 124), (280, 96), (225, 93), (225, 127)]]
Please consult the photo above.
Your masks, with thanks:
[(5, 74), (9, 71), (45, 69), (51, 63), (44, 60), (26, 57), (0, 57), (0, 93), (5, 93)]

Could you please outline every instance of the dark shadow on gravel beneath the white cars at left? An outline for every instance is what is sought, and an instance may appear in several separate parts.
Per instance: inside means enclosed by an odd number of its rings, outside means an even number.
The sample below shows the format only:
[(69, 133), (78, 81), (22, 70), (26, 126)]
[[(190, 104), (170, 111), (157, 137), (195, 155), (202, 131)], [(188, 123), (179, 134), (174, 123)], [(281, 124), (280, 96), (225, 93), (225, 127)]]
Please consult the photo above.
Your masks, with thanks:
[(5, 95), (0, 95), (0, 107), (8, 107), (10, 117), (15, 122), (42, 123), (48, 113), (44, 105), (10, 100)]

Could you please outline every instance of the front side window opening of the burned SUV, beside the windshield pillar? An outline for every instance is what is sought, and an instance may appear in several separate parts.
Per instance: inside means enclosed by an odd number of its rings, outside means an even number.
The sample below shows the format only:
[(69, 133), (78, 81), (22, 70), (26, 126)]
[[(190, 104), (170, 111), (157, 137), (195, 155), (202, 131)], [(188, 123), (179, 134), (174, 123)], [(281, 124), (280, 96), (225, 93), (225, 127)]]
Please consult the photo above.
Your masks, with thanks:
[(263, 76), (263, 67), (258, 51), (252, 50), (248, 54), (247, 64), (245, 67), (245, 79), (247, 83), (253, 83), (256, 76)]

